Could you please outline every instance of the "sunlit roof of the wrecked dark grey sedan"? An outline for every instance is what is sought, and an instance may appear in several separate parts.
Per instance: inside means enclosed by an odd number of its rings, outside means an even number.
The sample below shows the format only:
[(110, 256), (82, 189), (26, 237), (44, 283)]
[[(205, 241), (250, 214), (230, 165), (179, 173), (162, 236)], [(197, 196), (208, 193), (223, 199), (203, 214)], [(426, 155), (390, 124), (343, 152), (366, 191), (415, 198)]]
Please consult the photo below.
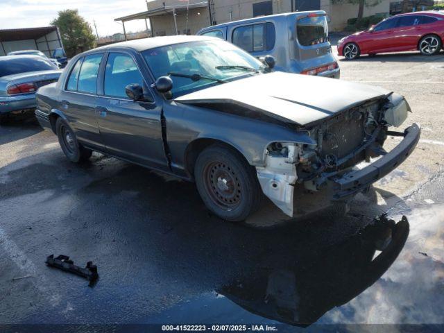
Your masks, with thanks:
[[(100, 46), (96, 49), (90, 50), (88, 52), (92, 51), (98, 51), (103, 50), (106, 51), (107, 49), (115, 49), (115, 48), (129, 48), (134, 49), (135, 51), (145, 51), (148, 49), (154, 49), (156, 47), (160, 46), (168, 46), (172, 44), (180, 44), (180, 43), (186, 43), (186, 42), (199, 42), (202, 40), (218, 40), (219, 38), (216, 37), (206, 37), (206, 36), (195, 36), (195, 35), (173, 35), (173, 36), (162, 36), (162, 37), (151, 37), (151, 38), (142, 38), (140, 40), (128, 40), (126, 42), (119, 42), (114, 44), (109, 44), (105, 46)], [(86, 52), (86, 53), (88, 53)]]

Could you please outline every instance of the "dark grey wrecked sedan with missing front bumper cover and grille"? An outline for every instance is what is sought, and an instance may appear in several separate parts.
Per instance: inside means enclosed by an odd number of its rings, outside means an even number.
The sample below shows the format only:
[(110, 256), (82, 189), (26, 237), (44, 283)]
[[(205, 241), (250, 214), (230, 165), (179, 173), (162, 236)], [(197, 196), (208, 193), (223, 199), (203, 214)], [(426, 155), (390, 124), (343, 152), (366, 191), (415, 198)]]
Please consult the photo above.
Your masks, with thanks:
[[(205, 205), (229, 221), (257, 210), (262, 193), (292, 216), (295, 186), (348, 198), (416, 146), (415, 123), (388, 133), (407, 118), (402, 96), (268, 73), (273, 59), (266, 62), (205, 36), (102, 46), (74, 57), (58, 83), (39, 89), (35, 114), (71, 162), (99, 151), (195, 181)], [(388, 134), (404, 139), (385, 153)]]

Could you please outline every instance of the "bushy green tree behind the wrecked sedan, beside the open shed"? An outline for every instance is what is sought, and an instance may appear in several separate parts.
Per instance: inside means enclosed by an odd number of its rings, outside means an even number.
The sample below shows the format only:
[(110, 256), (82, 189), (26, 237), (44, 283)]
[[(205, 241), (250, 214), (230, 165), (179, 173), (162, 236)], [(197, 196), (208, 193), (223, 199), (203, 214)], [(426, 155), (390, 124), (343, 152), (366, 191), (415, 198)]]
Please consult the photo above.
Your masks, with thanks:
[(67, 56), (73, 57), (77, 53), (92, 49), (96, 44), (96, 38), (88, 22), (78, 15), (78, 10), (67, 9), (58, 12), (58, 17), (53, 19), (51, 25), (57, 26), (62, 36), (63, 46)]

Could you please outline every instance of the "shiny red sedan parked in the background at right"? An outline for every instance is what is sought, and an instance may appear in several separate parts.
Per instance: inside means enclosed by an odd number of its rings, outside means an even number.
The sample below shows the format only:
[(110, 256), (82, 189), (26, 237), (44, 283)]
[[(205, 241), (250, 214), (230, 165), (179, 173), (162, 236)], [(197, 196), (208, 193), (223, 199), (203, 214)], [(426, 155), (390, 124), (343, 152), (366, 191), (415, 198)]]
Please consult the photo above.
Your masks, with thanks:
[(416, 51), (438, 54), (444, 41), (444, 12), (409, 12), (384, 19), (368, 31), (342, 38), (338, 54), (348, 60), (361, 54)]

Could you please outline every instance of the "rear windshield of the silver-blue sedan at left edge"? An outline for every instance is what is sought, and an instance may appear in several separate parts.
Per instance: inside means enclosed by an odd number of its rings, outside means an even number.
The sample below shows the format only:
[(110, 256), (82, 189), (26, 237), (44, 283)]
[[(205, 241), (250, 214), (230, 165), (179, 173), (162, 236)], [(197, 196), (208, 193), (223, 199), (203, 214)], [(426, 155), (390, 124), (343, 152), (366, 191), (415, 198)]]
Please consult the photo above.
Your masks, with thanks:
[(58, 67), (49, 60), (40, 57), (11, 57), (8, 60), (0, 60), (0, 77), (28, 71), (49, 71), (53, 69), (58, 69)]

